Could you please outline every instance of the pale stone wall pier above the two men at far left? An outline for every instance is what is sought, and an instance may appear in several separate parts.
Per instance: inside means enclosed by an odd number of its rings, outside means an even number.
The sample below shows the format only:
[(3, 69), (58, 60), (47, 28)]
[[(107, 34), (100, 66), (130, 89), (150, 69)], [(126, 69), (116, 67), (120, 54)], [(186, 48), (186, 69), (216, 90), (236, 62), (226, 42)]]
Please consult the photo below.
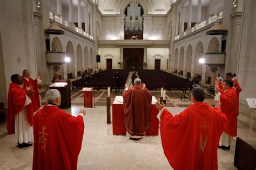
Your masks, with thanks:
[(4, 72), (1, 74), (5, 74), (5, 84), (4, 81), (0, 84), (1, 88), (5, 88), (8, 92), (12, 74), (21, 75), (23, 69), (29, 69), (30, 76), (36, 77), (33, 8), (30, 1), (0, 1), (0, 8), (4, 64)]

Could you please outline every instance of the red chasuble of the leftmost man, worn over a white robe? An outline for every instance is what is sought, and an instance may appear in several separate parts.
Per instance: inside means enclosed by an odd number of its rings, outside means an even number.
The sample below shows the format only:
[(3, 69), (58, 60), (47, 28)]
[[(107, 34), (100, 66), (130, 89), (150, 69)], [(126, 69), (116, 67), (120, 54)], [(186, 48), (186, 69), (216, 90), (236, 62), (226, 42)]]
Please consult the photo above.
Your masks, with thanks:
[(26, 115), (30, 126), (33, 126), (33, 109), (32, 105), (25, 106), (26, 92), (16, 83), (10, 83), (8, 91), (8, 115), (7, 115), (7, 130), (8, 134), (15, 133), (15, 115), (25, 108)]

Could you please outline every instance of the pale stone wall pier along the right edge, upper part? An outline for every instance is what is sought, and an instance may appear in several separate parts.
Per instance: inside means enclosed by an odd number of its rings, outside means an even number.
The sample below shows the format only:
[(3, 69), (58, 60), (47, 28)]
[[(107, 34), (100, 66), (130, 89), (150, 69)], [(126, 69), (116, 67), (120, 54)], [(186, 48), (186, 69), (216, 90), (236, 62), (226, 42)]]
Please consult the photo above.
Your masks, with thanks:
[[(256, 112), (248, 109), (245, 98), (256, 98), (256, 2), (246, 0), (244, 6), (244, 16), (242, 24), (240, 56), (238, 65), (238, 82), (242, 88), (240, 93), (239, 111), (244, 112), (249, 117)], [(255, 122), (254, 122), (255, 123)]]

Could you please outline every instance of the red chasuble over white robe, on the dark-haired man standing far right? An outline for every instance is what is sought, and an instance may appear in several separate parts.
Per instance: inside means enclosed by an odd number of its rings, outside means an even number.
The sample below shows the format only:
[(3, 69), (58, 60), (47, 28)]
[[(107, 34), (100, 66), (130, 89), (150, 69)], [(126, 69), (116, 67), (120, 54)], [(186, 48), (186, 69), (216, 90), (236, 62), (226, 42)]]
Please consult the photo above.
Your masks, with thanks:
[(237, 136), (237, 94), (234, 88), (227, 89), (220, 95), (221, 110), (226, 114), (225, 133)]

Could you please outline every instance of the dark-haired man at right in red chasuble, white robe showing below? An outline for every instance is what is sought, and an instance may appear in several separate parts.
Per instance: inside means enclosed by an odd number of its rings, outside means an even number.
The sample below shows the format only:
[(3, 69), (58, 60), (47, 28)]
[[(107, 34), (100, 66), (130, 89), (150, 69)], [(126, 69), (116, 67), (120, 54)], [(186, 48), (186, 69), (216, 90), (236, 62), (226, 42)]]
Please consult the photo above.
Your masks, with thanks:
[(223, 93), (220, 93), (218, 87), (215, 87), (214, 98), (221, 102), (221, 110), (226, 114), (227, 121), (223, 134), (221, 134), (219, 141), (219, 148), (225, 150), (230, 149), (232, 136), (237, 136), (237, 94), (233, 88), (232, 80), (224, 80), (222, 83)]

